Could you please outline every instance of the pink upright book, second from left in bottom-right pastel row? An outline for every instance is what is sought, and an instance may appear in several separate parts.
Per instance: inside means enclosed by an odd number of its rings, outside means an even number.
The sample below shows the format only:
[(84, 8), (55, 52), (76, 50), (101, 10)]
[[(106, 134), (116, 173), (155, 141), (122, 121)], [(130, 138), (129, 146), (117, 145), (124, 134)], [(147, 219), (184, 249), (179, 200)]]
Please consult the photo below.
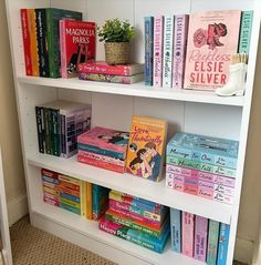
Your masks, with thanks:
[(194, 256), (194, 214), (182, 212), (182, 254)]

